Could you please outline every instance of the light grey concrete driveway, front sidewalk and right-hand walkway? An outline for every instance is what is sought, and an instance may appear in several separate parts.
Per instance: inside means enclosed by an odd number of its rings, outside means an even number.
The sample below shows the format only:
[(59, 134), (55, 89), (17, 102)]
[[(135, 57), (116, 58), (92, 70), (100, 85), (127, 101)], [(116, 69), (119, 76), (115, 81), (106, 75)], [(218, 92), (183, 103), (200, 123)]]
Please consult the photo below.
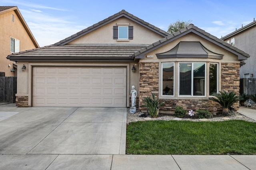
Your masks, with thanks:
[(0, 119), (0, 170), (256, 170), (256, 155), (126, 155), (126, 108), (5, 104)]

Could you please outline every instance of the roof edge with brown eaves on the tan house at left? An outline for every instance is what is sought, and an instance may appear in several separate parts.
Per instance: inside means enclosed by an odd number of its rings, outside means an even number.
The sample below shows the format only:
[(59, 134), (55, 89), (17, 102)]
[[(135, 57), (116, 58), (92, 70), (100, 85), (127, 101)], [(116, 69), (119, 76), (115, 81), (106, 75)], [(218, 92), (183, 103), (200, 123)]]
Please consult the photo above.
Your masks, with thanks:
[(1, 14), (4, 14), (6, 12), (10, 12), (10, 11), (14, 11), (16, 14), (17, 14), (17, 17), (20, 19), (24, 29), (27, 31), (30, 39), (32, 40), (33, 44), (36, 46), (36, 47), (39, 47), (34, 35), (32, 34), (32, 32), (30, 31), (26, 21), (24, 20), (24, 18), (22, 17), (20, 11), (18, 10), (18, 7), (17, 6), (0, 6), (0, 15)]

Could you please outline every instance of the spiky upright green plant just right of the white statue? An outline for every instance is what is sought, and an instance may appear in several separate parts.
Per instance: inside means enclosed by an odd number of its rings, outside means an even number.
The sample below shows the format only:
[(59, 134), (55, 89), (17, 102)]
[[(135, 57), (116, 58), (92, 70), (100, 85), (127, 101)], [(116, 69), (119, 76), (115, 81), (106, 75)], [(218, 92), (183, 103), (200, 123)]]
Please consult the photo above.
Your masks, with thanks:
[(154, 93), (151, 93), (152, 97), (148, 96), (143, 99), (144, 105), (143, 107), (147, 107), (148, 113), (150, 117), (156, 118), (158, 115), (158, 111), (160, 106), (163, 106), (164, 102), (159, 103), (159, 99), (156, 98)]

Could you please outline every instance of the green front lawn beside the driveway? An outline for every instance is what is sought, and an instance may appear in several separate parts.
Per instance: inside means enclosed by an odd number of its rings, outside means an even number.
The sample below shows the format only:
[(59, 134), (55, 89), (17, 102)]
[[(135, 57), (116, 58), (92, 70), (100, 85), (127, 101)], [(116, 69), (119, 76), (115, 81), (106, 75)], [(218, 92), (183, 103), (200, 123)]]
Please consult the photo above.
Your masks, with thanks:
[(127, 125), (127, 154), (256, 154), (256, 123), (138, 121)]

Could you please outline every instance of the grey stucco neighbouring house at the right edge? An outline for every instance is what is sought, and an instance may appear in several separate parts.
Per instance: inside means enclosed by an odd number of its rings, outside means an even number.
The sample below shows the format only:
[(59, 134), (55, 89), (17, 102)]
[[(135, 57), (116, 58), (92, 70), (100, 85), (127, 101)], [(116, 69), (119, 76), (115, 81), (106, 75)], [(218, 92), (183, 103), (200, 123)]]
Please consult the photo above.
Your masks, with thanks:
[(256, 21), (221, 38), (223, 41), (237, 47), (250, 55), (250, 58), (241, 62), (240, 78), (256, 77)]

